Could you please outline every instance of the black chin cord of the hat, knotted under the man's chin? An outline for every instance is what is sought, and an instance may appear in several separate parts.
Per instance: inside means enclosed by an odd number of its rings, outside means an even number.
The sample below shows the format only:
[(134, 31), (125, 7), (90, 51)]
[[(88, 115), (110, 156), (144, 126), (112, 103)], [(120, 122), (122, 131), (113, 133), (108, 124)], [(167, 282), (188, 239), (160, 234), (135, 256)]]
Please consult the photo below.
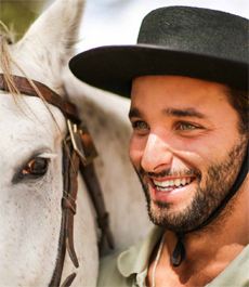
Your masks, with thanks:
[[(231, 188), (230, 193), (227, 194), (226, 198), (224, 199), (224, 201), (218, 207), (217, 210), (213, 211), (213, 213), (211, 213), (211, 216), (205, 220), (200, 225), (198, 225), (197, 227), (187, 231), (187, 232), (183, 232), (183, 233), (176, 233), (176, 238), (178, 238), (178, 243), (176, 246), (174, 247), (172, 257), (171, 257), (171, 263), (174, 268), (178, 268), (182, 264), (182, 262), (184, 261), (184, 259), (186, 258), (186, 250), (185, 250), (185, 245), (183, 243), (183, 236), (185, 234), (188, 233), (193, 233), (196, 231), (201, 230), (202, 227), (207, 226), (211, 221), (213, 221), (220, 213), (221, 211), (225, 208), (225, 206), (228, 204), (230, 199), (236, 194), (236, 192), (239, 190), (239, 187), (241, 186), (241, 184), (244, 183), (247, 173), (249, 171), (249, 165), (248, 165), (248, 149), (249, 149), (249, 145), (247, 146), (247, 154), (246, 157), (244, 159), (241, 169), (238, 173), (237, 180), (234, 183), (233, 187)], [(176, 263), (179, 262), (179, 263)]]

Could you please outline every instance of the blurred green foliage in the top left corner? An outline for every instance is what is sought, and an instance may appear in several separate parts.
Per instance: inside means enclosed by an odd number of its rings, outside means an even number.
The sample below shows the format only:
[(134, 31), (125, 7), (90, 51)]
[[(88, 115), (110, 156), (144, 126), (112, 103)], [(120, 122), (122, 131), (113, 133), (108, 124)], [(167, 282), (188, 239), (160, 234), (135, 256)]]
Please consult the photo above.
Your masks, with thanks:
[(18, 40), (40, 15), (45, 0), (0, 0), (0, 19), (14, 31), (15, 39)]

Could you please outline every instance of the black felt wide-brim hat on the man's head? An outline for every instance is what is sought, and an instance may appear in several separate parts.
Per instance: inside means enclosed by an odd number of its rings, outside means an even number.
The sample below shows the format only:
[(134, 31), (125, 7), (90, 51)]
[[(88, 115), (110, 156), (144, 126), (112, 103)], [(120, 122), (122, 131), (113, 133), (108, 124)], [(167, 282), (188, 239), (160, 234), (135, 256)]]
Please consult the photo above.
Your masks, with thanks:
[(248, 91), (248, 19), (209, 9), (157, 9), (142, 22), (137, 44), (101, 47), (69, 62), (80, 80), (130, 97), (132, 79), (172, 75)]

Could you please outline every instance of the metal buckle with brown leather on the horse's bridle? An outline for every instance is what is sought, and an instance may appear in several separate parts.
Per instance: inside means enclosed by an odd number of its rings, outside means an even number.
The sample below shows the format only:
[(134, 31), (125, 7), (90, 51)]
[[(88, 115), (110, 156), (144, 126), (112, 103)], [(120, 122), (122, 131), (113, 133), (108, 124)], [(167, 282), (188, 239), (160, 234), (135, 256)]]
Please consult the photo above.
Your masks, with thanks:
[(77, 125), (68, 119), (67, 127), (74, 149), (81, 159), (81, 162), (88, 166), (97, 156), (97, 152), (87, 126), (82, 126), (78, 129)]

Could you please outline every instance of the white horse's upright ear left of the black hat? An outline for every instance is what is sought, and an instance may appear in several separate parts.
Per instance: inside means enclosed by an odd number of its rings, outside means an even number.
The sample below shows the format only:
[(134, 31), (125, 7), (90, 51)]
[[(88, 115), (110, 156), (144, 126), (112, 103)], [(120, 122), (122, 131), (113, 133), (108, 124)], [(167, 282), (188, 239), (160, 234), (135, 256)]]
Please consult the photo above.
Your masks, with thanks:
[(61, 70), (74, 55), (83, 6), (84, 0), (56, 0), (16, 45), (28, 52), (28, 57), (42, 58)]

